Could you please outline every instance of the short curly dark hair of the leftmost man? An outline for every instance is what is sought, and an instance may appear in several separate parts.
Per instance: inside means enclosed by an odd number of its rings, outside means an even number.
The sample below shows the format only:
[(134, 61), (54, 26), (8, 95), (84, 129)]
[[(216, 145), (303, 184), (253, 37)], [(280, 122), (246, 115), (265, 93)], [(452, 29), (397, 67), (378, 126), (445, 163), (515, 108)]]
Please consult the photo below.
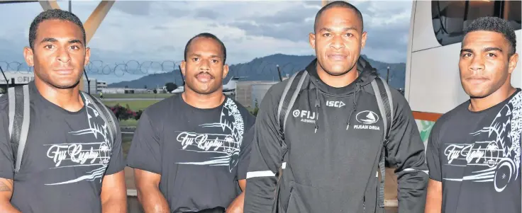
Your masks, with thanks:
[(74, 15), (73, 13), (70, 13), (69, 11), (62, 11), (60, 9), (50, 9), (47, 11), (43, 11), (42, 13), (38, 14), (36, 18), (33, 20), (32, 23), (30, 23), (29, 28), (29, 46), (31, 49), (34, 47), (34, 42), (36, 39), (36, 31), (38, 30), (38, 25), (46, 20), (60, 20), (60, 21), (70, 21), (76, 25), (80, 29), (82, 29), (82, 33), (84, 35), (84, 45), (85, 44), (85, 28), (82, 24), (82, 21), (79, 20), (78, 16)]

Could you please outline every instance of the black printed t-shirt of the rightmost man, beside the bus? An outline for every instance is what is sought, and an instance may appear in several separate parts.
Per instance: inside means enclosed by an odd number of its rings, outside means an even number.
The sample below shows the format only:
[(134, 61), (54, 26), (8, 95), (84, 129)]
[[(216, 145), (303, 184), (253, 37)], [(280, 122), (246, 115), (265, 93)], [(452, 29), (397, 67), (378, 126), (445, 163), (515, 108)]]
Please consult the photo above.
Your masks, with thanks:
[(426, 161), (445, 213), (520, 212), (522, 93), (480, 112), (470, 101), (435, 123)]

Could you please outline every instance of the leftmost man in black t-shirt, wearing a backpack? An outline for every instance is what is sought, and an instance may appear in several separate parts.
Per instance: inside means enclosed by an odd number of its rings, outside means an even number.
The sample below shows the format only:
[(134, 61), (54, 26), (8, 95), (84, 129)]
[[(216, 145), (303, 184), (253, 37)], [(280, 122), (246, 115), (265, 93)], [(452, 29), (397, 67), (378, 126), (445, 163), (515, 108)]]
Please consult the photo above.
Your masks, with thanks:
[[(67, 11), (44, 11), (30, 25), (29, 45), (23, 54), (35, 76), (25, 149), (11, 144), (14, 104), (0, 98), (0, 212), (126, 212), (119, 127), (113, 138), (97, 110), (106, 109), (79, 91), (90, 57), (82, 22)], [(18, 172), (15, 150), (24, 153)]]

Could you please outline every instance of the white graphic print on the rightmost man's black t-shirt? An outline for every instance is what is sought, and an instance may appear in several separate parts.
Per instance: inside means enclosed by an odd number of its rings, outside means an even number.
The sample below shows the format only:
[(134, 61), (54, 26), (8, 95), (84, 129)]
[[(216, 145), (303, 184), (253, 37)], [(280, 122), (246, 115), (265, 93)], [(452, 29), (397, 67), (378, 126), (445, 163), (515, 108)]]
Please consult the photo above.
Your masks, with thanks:
[[(501, 192), (518, 180), (521, 166), (522, 93), (517, 93), (494, 118), (473, 136), (472, 144), (445, 144), (444, 155), (449, 166), (471, 166), (471, 173), (452, 181), (493, 184)], [(518, 180), (520, 181), (520, 180)], [(489, 183), (493, 182), (493, 183)]]

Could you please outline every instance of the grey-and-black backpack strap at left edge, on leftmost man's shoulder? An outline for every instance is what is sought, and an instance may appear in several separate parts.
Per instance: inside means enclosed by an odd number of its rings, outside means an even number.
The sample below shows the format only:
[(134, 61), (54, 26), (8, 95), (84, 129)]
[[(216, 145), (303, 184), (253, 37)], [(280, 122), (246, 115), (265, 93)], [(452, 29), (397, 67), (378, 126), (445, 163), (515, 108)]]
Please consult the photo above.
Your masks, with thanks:
[(23, 151), (26, 147), (30, 122), (29, 86), (16, 86), (7, 89), (9, 98), (9, 137), (13, 150), (14, 172), (22, 165)]

